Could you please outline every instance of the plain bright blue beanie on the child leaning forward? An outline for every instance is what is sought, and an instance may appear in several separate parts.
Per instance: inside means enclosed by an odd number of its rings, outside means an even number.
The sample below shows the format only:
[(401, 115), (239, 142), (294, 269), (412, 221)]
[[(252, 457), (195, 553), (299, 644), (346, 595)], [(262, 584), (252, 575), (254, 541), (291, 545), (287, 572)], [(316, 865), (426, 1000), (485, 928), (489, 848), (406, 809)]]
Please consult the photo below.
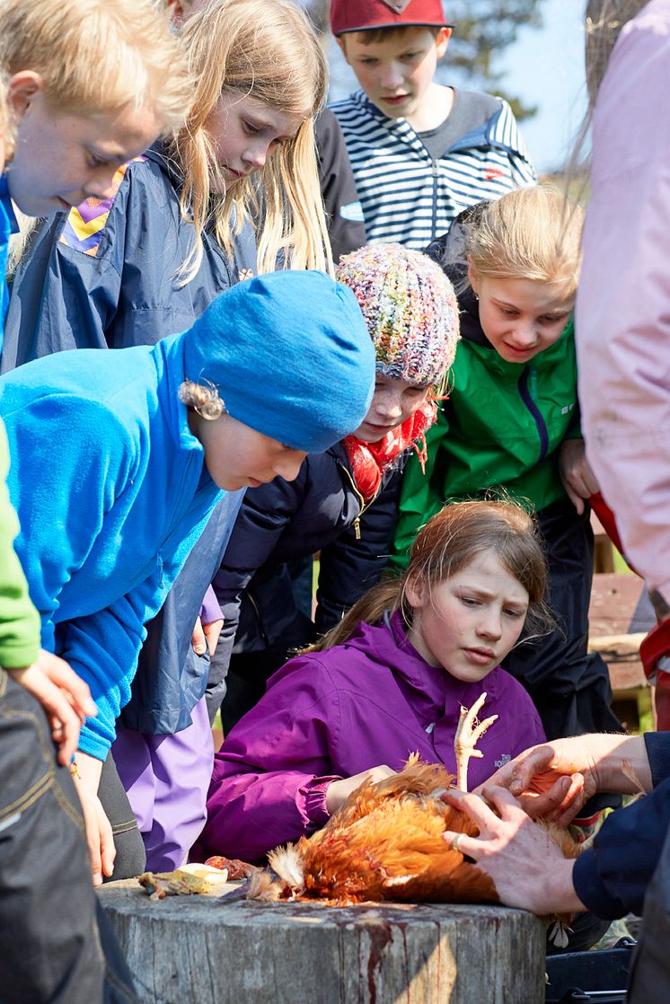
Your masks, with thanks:
[(375, 386), (356, 296), (323, 272), (273, 272), (221, 293), (187, 332), (184, 361), (238, 422), (306, 453), (357, 429)]

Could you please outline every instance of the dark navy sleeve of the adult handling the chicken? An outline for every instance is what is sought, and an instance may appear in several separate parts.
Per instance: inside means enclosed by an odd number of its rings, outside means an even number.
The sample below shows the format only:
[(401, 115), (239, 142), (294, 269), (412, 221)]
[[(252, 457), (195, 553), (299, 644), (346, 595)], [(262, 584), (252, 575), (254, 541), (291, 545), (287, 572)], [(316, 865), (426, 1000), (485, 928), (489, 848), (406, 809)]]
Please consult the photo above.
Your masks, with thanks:
[(614, 920), (642, 915), (647, 887), (670, 830), (670, 732), (645, 734), (654, 790), (611, 813), (593, 847), (575, 862), (573, 882), (582, 903)]

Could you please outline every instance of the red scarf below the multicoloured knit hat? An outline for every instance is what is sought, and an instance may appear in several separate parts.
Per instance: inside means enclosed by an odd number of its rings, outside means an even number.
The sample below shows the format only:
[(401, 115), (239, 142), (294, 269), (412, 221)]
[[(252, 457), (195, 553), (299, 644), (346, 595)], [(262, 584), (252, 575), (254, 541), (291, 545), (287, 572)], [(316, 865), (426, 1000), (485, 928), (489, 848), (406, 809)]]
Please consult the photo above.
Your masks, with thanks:
[(397, 429), (392, 429), (378, 443), (364, 443), (356, 436), (348, 436), (343, 441), (356, 486), (363, 495), (364, 502), (375, 498), (382, 483), (382, 475), (408, 447), (414, 447), (421, 469), (425, 471), (426, 432), (436, 419), (437, 401), (429, 397), (409, 419), (405, 419)]

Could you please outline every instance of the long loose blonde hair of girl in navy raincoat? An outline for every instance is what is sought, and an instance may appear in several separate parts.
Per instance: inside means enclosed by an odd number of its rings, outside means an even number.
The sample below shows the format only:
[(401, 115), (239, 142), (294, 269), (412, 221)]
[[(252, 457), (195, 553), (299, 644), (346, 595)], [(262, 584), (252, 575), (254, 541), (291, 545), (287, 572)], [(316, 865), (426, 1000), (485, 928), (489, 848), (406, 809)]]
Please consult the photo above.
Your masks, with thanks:
[[(259, 272), (274, 271), (281, 256), (284, 267), (331, 274), (312, 118), (325, 100), (327, 67), (306, 16), (290, 0), (210, 0), (189, 17), (181, 39), (196, 81), (191, 111), (170, 151), (184, 178), (182, 213), (195, 229), (182, 278), (188, 282), (198, 271), (208, 224), (231, 254), (247, 220), (258, 226)], [(304, 116), (294, 140), (227, 191), (206, 129), (222, 92)], [(222, 195), (212, 192), (217, 175)]]

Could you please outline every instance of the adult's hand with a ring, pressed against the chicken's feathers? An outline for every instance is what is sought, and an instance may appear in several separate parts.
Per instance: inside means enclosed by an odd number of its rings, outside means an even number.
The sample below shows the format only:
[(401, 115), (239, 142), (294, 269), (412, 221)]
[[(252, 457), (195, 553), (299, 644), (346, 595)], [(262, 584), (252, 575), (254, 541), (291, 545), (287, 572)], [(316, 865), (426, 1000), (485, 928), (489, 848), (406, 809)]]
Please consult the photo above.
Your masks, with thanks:
[(574, 860), (564, 857), (546, 830), (533, 822), (504, 788), (484, 786), (499, 816), (475, 794), (450, 788), (442, 798), (472, 819), (479, 836), (445, 831), (448, 843), (493, 881), (500, 902), (538, 916), (585, 910), (573, 886)]

